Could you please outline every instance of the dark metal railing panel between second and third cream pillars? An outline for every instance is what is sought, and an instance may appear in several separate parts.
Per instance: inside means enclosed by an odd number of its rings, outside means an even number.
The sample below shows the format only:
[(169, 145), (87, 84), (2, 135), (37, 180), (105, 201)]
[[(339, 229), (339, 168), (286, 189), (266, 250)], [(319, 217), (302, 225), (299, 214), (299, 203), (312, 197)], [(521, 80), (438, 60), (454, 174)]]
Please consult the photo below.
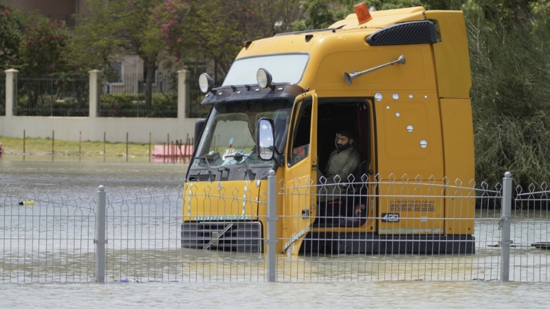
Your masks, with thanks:
[(177, 73), (158, 73), (149, 91), (142, 74), (103, 80), (100, 117), (177, 117)]

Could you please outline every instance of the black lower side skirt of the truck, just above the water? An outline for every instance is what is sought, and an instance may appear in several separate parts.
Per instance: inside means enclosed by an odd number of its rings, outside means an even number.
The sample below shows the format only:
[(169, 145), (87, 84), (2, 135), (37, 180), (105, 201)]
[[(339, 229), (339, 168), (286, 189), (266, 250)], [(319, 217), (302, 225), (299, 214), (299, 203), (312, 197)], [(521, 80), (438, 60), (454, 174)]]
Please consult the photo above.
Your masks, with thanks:
[(300, 254), (474, 254), (472, 235), (391, 235), (376, 233), (312, 232), (305, 237)]

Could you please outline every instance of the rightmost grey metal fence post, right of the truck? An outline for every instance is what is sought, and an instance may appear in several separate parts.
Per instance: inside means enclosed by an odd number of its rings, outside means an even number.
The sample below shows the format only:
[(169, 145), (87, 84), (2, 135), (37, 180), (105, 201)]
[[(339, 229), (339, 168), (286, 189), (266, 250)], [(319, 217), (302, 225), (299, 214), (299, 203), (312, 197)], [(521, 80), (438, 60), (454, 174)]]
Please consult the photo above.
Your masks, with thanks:
[(503, 207), (498, 223), (500, 231), (500, 280), (509, 281), (510, 275), (510, 225), (511, 225), (511, 173), (505, 172), (503, 178)]

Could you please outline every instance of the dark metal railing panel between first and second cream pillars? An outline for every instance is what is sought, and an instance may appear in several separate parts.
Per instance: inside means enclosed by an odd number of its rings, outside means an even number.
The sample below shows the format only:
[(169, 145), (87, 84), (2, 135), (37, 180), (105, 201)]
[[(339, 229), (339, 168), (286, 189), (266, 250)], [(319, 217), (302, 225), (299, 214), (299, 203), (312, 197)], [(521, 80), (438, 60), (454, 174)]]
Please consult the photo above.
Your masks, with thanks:
[(14, 115), (87, 117), (88, 106), (87, 74), (20, 74), (17, 77)]

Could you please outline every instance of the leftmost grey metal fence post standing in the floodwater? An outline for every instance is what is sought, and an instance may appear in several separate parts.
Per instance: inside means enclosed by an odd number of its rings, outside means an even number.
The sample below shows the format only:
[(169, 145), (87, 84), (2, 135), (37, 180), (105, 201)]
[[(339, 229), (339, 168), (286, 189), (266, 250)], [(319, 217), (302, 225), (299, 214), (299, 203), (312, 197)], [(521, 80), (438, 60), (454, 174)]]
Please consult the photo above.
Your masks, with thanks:
[(98, 187), (98, 204), (96, 205), (96, 282), (105, 282), (105, 188)]

